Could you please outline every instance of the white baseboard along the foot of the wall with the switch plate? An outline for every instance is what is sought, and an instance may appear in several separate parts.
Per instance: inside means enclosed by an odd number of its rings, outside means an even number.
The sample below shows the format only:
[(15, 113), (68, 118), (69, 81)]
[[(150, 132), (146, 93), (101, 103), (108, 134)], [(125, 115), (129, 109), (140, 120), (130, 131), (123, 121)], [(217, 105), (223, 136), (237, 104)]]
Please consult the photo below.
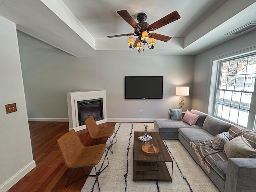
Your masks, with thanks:
[(30, 172), (33, 168), (36, 167), (36, 162), (32, 160), (29, 164), (27, 164), (24, 168), (14, 174), (10, 179), (4, 182), (0, 186), (0, 191), (8, 191), (12, 186), (14, 186), (22, 177), (24, 177), (28, 172)]

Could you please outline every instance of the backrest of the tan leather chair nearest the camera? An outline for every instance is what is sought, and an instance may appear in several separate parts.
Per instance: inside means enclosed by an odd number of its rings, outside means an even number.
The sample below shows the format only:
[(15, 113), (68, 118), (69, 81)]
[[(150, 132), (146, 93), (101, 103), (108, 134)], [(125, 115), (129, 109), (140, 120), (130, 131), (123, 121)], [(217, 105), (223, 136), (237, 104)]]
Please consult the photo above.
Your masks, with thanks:
[(84, 147), (75, 130), (67, 132), (57, 140), (62, 158), (68, 168), (72, 168), (74, 160), (80, 155)]

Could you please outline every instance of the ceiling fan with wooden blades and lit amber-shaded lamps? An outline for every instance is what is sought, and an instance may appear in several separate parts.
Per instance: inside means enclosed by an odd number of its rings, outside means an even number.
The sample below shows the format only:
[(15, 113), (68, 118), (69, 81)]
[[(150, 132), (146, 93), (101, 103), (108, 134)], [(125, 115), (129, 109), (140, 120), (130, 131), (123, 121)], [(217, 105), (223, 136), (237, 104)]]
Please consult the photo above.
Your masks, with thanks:
[(174, 22), (174, 21), (180, 19), (180, 15), (178, 14), (178, 12), (174, 11), (174, 12), (164, 16), (160, 20), (158, 20), (152, 24), (148, 24), (147, 22), (145, 22), (147, 15), (145, 13), (139, 13), (137, 15), (137, 20), (138, 20), (138, 23), (137, 23), (132, 18), (132, 16), (130, 16), (130, 14), (127, 12), (127, 10), (121, 10), (121, 11), (118, 11), (117, 13), (124, 20), (126, 20), (126, 22), (128, 22), (128, 24), (130, 24), (130, 26), (132, 26), (132, 28), (134, 28), (134, 33), (113, 35), (113, 36), (108, 36), (108, 37), (112, 38), (112, 37), (121, 37), (121, 36), (138, 36), (138, 38), (136, 38), (135, 42), (132, 37), (129, 37), (128, 45), (130, 48), (136, 47), (138, 49), (139, 53), (140, 53), (140, 49), (142, 48), (142, 46), (141, 46), (142, 44), (148, 45), (148, 43), (146, 42), (146, 40), (148, 40), (148, 38), (150, 38), (149, 45), (151, 46), (151, 48), (148, 46), (148, 48), (150, 48), (150, 49), (153, 49), (154, 44), (156, 44), (154, 39), (164, 41), (164, 42), (167, 42), (168, 40), (171, 39), (171, 37), (169, 37), (169, 36), (160, 35), (157, 33), (149, 33), (150, 31), (154, 31), (162, 26), (165, 26), (171, 22)]

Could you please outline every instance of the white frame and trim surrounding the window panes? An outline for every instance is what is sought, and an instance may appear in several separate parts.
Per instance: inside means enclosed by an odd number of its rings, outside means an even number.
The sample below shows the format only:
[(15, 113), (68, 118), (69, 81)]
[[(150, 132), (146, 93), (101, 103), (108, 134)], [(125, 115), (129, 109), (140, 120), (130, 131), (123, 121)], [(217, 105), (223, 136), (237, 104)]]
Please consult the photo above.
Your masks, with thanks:
[[(250, 50), (250, 51), (248, 51)], [(208, 114), (215, 116), (214, 115), (214, 110), (215, 110), (215, 101), (216, 101), (216, 88), (219, 83), (219, 78), (220, 78), (220, 71), (221, 71), (221, 62), (225, 60), (233, 60), (236, 58), (242, 58), (242, 57), (247, 57), (247, 56), (252, 56), (256, 54), (256, 47), (246, 49), (246, 50), (241, 50), (232, 54), (227, 54), (224, 56), (219, 56), (217, 58), (212, 58), (211, 59), (211, 66), (210, 66), (210, 76), (209, 76), (209, 92), (208, 92)], [(254, 92), (252, 93), (252, 98), (251, 98), (251, 104), (250, 104), (250, 110), (249, 110), (249, 116), (248, 116), (248, 122), (246, 128), (250, 130), (256, 130), (256, 86), (254, 86)], [(218, 116), (215, 116), (216, 118), (220, 118)], [(222, 118), (220, 118), (222, 119)], [(226, 119), (222, 119), (224, 121), (230, 122)], [(232, 124), (235, 124), (234, 122), (230, 122)], [(241, 126), (241, 125), (239, 125)]]

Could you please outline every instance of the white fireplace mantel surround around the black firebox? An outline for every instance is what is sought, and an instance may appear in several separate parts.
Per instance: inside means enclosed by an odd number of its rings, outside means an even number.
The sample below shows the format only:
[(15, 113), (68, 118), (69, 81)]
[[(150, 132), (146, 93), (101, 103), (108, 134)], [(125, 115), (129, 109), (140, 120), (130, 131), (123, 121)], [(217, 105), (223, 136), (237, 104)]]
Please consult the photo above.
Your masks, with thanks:
[(77, 102), (83, 100), (91, 100), (102, 98), (103, 100), (103, 120), (96, 121), (96, 124), (102, 124), (107, 122), (107, 110), (106, 110), (106, 91), (75, 91), (67, 93), (68, 102), (68, 122), (69, 130), (74, 129), (75, 131), (80, 131), (86, 129), (85, 125), (79, 126), (78, 124), (78, 107)]

